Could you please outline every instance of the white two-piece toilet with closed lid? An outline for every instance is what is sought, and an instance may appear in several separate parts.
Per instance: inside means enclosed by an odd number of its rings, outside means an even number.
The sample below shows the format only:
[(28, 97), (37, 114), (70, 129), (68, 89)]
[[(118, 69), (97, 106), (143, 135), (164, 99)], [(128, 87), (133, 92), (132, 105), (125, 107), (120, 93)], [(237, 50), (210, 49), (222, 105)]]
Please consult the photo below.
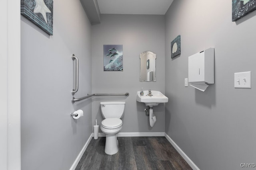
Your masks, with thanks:
[(124, 115), (123, 101), (100, 102), (100, 109), (104, 120), (101, 122), (100, 129), (106, 134), (105, 153), (112, 155), (118, 152), (117, 134), (122, 129), (121, 118)]

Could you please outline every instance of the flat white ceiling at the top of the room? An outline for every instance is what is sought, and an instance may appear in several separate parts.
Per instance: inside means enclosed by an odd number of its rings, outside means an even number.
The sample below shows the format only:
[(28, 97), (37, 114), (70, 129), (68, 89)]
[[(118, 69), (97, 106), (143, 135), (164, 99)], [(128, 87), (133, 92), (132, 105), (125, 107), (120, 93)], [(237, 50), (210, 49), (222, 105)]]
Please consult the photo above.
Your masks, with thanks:
[(100, 14), (164, 15), (173, 0), (98, 0)]

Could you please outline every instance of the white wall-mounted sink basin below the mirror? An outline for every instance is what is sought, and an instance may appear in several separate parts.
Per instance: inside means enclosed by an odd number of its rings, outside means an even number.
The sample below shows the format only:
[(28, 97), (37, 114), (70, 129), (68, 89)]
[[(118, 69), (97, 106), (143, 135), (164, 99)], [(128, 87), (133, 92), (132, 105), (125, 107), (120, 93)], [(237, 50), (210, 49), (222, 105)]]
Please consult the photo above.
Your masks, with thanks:
[(146, 106), (153, 107), (160, 103), (168, 102), (168, 98), (159, 91), (151, 90), (152, 96), (146, 96), (148, 94), (148, 90), (144, 90), (143, 92), (143, 96), (140, 96), (140, 91), (137, 92), (136, 100), (138, 102), (145, 103)]

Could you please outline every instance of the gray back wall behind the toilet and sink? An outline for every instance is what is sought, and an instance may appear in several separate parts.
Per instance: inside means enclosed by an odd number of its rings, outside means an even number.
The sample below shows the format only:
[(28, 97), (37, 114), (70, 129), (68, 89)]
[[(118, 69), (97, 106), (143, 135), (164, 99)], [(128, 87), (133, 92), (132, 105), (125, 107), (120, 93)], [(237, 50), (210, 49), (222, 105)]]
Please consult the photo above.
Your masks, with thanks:
[[(164, 16), (101, 15), (101, 23), (92, 26), (92, 92), (125, 93), (130, 96), (93, 97), (92, 122), (103, 117), (100, 102), (126, 101), (122, 132), (164, 132), (164, 104), (153, 107), (156, 123), (149, 125), (144, 103), (136, 102), (136, 92), (159, 90), (164, 93)], [(103, 45), (123, 45), (124, 71), (103, 71)], [(140, 53), (156, 53), (156, 82), (140, 82)]]

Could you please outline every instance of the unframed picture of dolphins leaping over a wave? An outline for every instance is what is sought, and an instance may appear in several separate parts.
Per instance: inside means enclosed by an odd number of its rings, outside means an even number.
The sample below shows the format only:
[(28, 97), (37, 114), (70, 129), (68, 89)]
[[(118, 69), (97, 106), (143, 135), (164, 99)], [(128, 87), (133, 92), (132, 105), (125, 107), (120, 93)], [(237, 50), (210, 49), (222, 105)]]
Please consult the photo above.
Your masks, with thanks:
[(103, 45), (104, 71), (123, 71), (123, 45)]

